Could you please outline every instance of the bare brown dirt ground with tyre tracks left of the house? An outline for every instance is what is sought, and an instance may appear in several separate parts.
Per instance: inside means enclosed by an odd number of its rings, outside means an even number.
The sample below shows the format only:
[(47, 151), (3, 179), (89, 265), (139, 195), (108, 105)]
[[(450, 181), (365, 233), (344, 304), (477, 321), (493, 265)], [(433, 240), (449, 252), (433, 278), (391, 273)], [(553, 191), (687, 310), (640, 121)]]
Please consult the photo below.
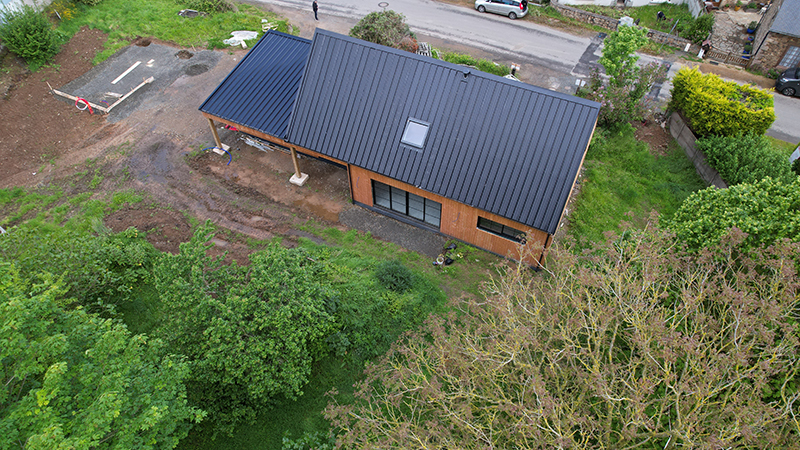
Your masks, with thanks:
[[(313, 33), (306, 28), (301, 35)], [(305, 186), (294, 186), (288, 183), (293, 172), (288, 155), (253, 148), (224, 129), (220, 136), (232, 148), (230, 164), (227, 155), (201, 151), (213, 145), (213, 137), (197, 108), (241, 59), (241, 50), (221, 52), (215, 67), (181, 76), (115, 123), (50, 94), (47, 83), (57, 88), (89, 71), (105, 39), (97, 30), (81, 30), (37, 73), (12, 55), (3, 56), (0, 187), (57, 185), (70, 194), (92, 190), (90, 181), (100, 174), (96, 197), (128, 188), (145, 194), (144, 202), (107, 217), (111, 229), (137, 227), (160, 250), (177, 252), (191, 237), (189, 216), (210, 220), (230, 231), (218, 234), (216, 247), (240, 262), (250, 252), (245, 237), (280, 236), (294, 245), (303, 236), (296, 225), (309, 219), (345, 228), (340, 214), (354, 207), (344, 169), (303, 159), (310, 178)], [(637, 136), (654, 153), (666, 149), (669, 135), (660, 126), (638, 128)], [(370, 214), (349, 217), (379, 220)]]

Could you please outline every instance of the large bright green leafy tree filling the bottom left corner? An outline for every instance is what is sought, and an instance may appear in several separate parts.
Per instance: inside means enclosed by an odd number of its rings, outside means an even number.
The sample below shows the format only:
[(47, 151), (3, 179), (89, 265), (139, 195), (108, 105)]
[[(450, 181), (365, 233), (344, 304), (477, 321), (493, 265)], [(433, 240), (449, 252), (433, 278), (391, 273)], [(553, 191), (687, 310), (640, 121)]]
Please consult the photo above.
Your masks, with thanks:
[(161, 341), (65, 306), (0, 263), (0, 449), (171, 449), (205, 415)]

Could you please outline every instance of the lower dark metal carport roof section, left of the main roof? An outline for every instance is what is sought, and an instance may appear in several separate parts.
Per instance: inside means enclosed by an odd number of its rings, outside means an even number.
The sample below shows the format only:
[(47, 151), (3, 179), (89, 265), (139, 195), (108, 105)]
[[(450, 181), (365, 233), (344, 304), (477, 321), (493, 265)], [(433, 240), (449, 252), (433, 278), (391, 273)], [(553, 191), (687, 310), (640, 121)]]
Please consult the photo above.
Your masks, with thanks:
[(270, 30), (200, 111), (284, 138), (311, 41)]

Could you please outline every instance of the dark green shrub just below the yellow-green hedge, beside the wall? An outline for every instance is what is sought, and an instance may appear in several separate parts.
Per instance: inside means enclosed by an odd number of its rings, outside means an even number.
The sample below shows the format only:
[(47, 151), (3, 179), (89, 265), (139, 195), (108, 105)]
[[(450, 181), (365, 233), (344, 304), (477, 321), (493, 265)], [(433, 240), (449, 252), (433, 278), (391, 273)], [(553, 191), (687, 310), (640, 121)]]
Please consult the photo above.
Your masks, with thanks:
[(697, 149), (728, 184), (752, 183), (765, 177), (789, 183), (795, 178), (786, 156), (764, 136), (708, 136), (697, 140)]

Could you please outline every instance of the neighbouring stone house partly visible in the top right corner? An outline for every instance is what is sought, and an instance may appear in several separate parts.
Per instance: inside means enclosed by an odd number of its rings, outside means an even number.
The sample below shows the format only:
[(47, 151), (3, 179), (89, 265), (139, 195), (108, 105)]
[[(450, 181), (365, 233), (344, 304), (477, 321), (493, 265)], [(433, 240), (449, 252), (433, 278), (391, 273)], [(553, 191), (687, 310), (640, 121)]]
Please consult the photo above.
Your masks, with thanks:
[(761, 16), (750, 67), (782, 72), (800, 67), (800, 0), (773, 0)]

